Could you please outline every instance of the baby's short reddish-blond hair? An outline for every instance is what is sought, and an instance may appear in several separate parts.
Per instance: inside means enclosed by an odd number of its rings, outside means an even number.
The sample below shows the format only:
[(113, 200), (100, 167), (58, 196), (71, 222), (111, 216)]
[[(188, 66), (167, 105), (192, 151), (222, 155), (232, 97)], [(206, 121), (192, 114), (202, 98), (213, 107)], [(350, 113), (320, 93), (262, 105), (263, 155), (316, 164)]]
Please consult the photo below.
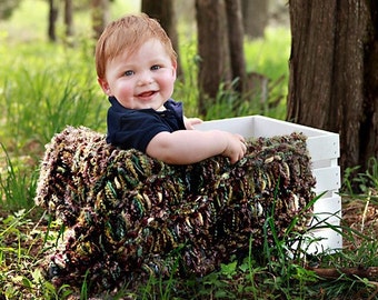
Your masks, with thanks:
[(96, 46), (96, 70), (99, 78), (106, 77), (107, 62), (123, 51), (133, 53), (146, 41), (157, 39), (165, 47), (172, 62), (176, 52), (172, 43), (160, 23), (147, 14), (130, 14), (112, 21), (103, 30)]

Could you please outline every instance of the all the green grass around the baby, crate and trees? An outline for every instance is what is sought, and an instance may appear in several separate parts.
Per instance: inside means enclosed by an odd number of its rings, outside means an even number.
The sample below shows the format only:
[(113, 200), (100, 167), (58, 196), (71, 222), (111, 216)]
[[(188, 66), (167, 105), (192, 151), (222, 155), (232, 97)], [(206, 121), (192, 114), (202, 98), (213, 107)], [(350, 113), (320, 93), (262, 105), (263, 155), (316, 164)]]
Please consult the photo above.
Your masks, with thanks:
[[(117, 2), (117, 1), (116, 1)], [(96, 83), (92, 43), (81, 36), (76, 48), (44, 41), (40, 19), (43, 1), (24, 1), (23, 10), (13, 17), (11, 27), (0, 24), (0, 299), (89, 299), (90, 282), (81, 289), (63, 286), (57, 289), (39, 268), (47, 251), (61, 236), (61, 224), (33, 204), (38, 166), (43, 146), (67, 124), (87, 126), (106, 131), (107, 100)], [(38, 7), (39, 9), (31, 9)], [(36, 7), (34, 7), (36, 6)], [(117, 6), (120, 6), (119, 2)], [(118, 11), (121, 11), (118, 8)], [(125, 11), (125, 10), (123, 10)], [(30, 12), (31, 14), (27, 14)], [(26, 16), (28, 18), (26, 18)], [(84, 16), (84, 12), (82, 12)], [(88, 16), (86, 17), (88, 18)], [(88, 24), (83, 18), (82, 26)], [(14, 21), (16, 20), (16, 21)], [(26, 24), (27, 23), (27, 24)], [(29, 28), (22, 31), (20, 28)], [(83, 30), (84, 32), (84, 30)], [(20, 34), (19, 34), (20, 33)], [(19, 34), (19, 36), (18, 36)], [(14, 37), (20, 38), (19, 42)], [(263, 74), (270, 81), (270, 99), (287, 94), (289, 33), (281, 28), (268, 29), (265, 39), (246, 41), (248, 71)], [(36, 42), (37, 40), (37, 42)], [(27, 43), (24, 43), (27, 41)], [(182, 100), (188, 116), (197, 114), (196, 48), (182, 40), (182, 66), (186, 81), (178, 82), (175, 98)], [(285, 51), (277, 52), (277, 49)], [(277, 84), (275, 84), (277, 83)], [(268, 109), (253, 99), (240, 101), (233, 93), (219, 92), (206, 119), (263, 113), (285, 117), (285, 100)], [(240, 102), (238, 102), (240, 103)], [(357, 176), (352, 176), (357, 173)], [(359, 192), (355, 193), (354, 187)], [(150, 278), (147, 284), (99, 296), (101, 299), (378, 299), (377, 278), (340, 274), (320, 277), (311, 267), (366, 269), (378, 267), (378, 161), (371, 159), (368, 170), (348, 169), (342, 186), (344, 249), (307, 256), (288, 254), (288, 244), (302, 237), (288, 231), (275, 239), (275, 246), (256, 253), (250, 247), (242, 261), (236, 259), (203, 278), (180, 280)], [(266, 227), (275, 232), (275, 216)], [(331, 226), (330, 226), (331, 227)]]

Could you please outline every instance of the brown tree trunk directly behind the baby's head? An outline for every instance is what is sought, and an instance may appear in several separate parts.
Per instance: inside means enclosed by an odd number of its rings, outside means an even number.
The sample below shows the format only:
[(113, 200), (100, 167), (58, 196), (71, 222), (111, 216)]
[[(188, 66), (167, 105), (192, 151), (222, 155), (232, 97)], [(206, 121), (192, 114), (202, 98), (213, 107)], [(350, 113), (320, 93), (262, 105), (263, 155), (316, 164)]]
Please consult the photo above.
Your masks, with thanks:
[(157, 19), (161, 27), (166, 30), (170, 38), (173, 49), (178, 56), (178, 77), (182, 78), (180, 56), (179, 56), (179, 36), (177, 33), (177, 21), (175, 12), (173, 0), (142, 0), (141, 11), (147, 13), (149, 17)]

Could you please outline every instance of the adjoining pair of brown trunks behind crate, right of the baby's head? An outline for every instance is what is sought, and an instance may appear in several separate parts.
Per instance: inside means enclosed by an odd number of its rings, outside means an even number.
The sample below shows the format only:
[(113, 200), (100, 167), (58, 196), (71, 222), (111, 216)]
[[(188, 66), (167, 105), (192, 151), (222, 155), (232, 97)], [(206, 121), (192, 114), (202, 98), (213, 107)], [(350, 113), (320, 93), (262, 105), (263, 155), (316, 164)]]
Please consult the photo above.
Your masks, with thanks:
[(222, 83), (227, 87), (236, 77), (242, 80), (245, 74), (241, 70), (245, 69), (245, 52), (240, 4), (226, 2), (227, 6), (223, 0), (196, 0), (199, 113), (202, 116), (216, 100)]

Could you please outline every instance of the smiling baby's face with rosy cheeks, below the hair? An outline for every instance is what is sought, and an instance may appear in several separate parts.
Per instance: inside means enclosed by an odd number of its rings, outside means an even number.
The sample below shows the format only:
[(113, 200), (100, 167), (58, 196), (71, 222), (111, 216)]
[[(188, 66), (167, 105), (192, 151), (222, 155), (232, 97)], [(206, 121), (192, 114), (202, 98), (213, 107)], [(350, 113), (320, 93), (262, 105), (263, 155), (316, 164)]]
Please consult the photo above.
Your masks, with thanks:
[(99, 83), (129, 109), (158, 110), (172, 96), (177, 64), (159, 40), (151, 39), (137, 51), (123, 51), (108, 61)]

